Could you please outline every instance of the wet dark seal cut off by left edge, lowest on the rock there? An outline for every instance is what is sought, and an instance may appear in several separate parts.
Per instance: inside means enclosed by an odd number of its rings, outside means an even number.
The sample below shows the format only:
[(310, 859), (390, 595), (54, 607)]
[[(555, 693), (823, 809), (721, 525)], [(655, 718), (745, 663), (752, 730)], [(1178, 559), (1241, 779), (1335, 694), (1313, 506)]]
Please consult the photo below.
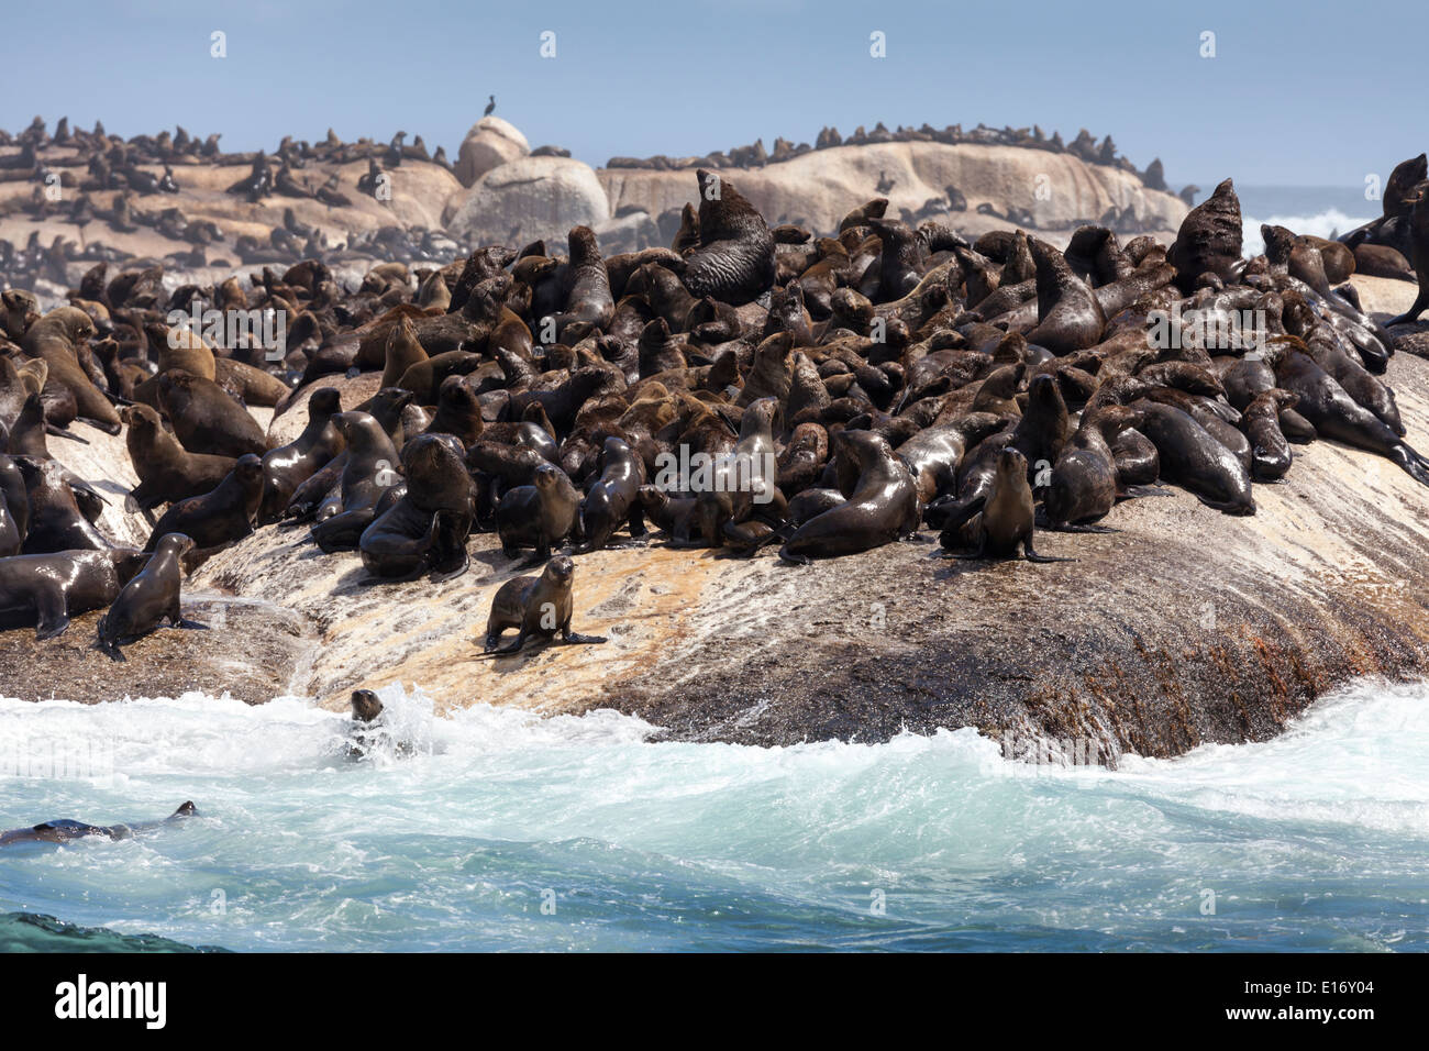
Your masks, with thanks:
[(129, 548), (0, 559), (0, 628), (33, 625), (37, 641), (53, 639), (71, 616), (110, 605), (147, 561)]

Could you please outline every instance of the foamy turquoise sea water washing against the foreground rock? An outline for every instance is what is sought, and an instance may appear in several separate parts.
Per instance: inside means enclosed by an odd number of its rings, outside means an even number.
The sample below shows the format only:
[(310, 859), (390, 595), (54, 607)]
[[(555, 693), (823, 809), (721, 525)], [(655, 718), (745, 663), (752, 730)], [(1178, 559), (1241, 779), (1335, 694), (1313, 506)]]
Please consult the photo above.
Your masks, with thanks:
[[(414, 754), (362, 762), (346, 719), (296, 699), (0, 701), (0, 828), (203, 814), (0, 851), (0, 944), (1429, 948), (1425, 686), (1362, 684), (1276, 741), (1116, 772), (1009, 764), (972, 731), (647, 744), (613, 712), (383, 696)], [(13, 775), (36, 755), (87, 765)]]

